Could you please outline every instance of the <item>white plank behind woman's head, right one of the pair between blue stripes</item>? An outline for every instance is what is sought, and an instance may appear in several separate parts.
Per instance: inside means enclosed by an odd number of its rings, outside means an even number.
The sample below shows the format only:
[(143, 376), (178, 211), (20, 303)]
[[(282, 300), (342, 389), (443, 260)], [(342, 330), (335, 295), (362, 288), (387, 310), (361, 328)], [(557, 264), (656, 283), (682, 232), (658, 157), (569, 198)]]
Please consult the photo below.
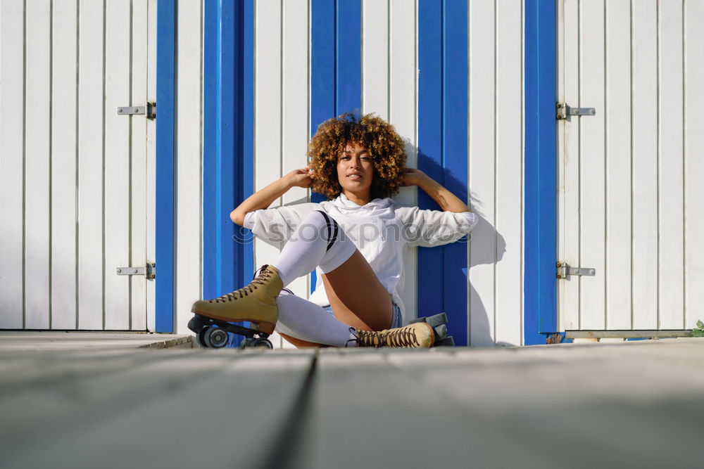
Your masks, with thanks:
[[(406, 166), (418, 165), (417, 148), (417, 57), (416, 8), (408, 8), (403, 0), (389, 2), (389, 122), (406, 143)], [(401, 188), (394, 196), (403, 205), (417, 205), (417, 188)], [(406, 309), (406, 321), (417, 313), (417, 248), (409, 248), (403, 255), (405, 268), (397, 291)]]

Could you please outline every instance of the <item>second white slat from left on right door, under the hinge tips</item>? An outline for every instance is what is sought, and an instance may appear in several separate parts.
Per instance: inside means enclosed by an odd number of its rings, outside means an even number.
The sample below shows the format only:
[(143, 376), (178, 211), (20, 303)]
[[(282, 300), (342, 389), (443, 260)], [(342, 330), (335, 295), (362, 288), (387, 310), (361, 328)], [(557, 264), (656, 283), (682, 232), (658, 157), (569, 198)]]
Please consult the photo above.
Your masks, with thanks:
[[(601, 112), (579, 121), (580, 246), (578, 266), (592, 267), (597, 276), (579, 278), (582, 328), (605, 327), (605, 180), (604, 180), (604, 3), (583, 1), (579, 11), (579, 101), (572, 106)], [(596, 79), (594, 77), (597, 77)]]

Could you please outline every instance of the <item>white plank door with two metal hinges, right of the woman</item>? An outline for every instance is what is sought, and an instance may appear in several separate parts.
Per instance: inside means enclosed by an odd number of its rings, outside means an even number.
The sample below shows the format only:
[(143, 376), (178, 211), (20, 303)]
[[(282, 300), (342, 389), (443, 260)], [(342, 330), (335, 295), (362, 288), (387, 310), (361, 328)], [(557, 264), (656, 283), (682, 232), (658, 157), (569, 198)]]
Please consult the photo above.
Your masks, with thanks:
[(561, 330), (693, 328), (704, 311), (704, 1), (560, 0)]

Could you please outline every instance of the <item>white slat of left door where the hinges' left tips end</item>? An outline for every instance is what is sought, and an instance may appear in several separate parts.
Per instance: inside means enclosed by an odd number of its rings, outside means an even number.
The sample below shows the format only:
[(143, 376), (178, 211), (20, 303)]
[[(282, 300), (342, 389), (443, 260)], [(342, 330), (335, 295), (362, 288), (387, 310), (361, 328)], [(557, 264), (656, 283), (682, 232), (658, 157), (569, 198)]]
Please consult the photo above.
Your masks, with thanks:
[(130, 265), (130, 120), (117, 114), (130, 105), (130, 4), (106, 3), (105, 44), (105, 328), (130, 328), (130, 277), (118, 266)]

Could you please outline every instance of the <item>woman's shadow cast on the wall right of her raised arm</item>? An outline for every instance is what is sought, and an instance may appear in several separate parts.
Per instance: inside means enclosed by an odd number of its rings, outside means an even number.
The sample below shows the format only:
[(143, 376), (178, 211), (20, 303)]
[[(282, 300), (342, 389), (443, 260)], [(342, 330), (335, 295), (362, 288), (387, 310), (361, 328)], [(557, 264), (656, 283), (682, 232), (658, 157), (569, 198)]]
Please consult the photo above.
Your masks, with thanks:
[[(461, 181), (449, 169), (441, 167), (435, 160), (429, 158), (421, 150), (418, 150), (418, 166), (425, 168), (424, 171), (429, 176), (442, 174), (444, 178), (444, 186), (455, 195), (467, 193), (467, 181)], [(435, 178), (434, 178), (435, 179)], [(501, 261), (506, 252), (506, 242), (501, 236), (501, 233), (496, 231), (489, 221), (486, 220), (482, 208), (484, 203), (477, 197), (474, 192), (469, 192), (469, 206), (472, 212), (477, 215), (479, 221), (472, 230), (471, 243), (468, 243), (467, 250), (470, 252), (470, 269), (481, 264), (496, 264)], [(463, 197), (460, 196), (460, 199)], [(464, 269), (463, 269), (464, 270)], [(467, 271), (462, 274), (467, 277)], [(470, 324), (469, 342), (472, 346), (511, 346), (520, 344), (510, 344), (507, 342), (494, 342), (493, 330), (489, 323), (489, 314), (484, 307), (484, 301), (479, 293), (472, 285), (472, 282), (467, 283), (467, 300), (470, 302)], [(494, 302), (494, 298), (486, 298), (488, 302)], [(493, 322), (493, 321), (492, 321)]]

